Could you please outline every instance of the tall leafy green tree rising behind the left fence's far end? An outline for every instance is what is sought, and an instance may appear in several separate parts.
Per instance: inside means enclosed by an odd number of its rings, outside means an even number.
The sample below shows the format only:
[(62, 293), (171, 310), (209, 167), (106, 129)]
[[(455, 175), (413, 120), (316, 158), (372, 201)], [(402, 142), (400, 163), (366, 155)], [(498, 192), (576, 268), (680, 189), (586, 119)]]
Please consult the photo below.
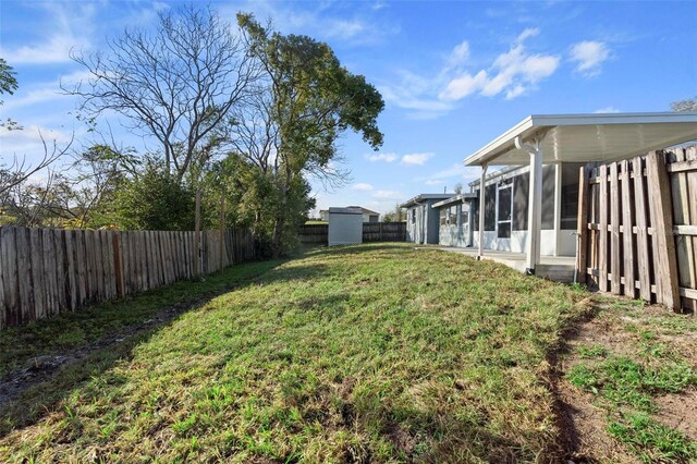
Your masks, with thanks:
[(250, 14), (237, 14), (237, 22), (264, 74), (255, 99), (233, 112), (231, 137), (236, 156), (274, 191), (264, 215), (271, 215), (267, 227), (272, 255), (279, 256), (314, 206), (307, 178), (342, 180), (332, 166), (340, 157), (338, 137), (353, 130), (372, 148), (381, 146), (377, 117), (384, 102), (327, 44), (269, 30)]

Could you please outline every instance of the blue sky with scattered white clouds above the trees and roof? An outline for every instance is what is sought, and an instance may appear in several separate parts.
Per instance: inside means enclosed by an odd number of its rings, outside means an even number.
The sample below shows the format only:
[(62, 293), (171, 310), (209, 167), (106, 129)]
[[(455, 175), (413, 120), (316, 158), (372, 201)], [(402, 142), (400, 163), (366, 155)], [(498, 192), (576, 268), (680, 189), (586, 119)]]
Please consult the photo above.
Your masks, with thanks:
[[(0, 1), (0, 57), (20, 89), (4, 96), (0, 155), (40, 152), (39, 130), (65, 143), (89, 135), (59, 82), (84, 72), (72, 47), (99, 50), (126, 26), (154, 24), (173, 2)], [(212, 3), (271, 19), (281, 32), (327, 41), (348, 70), (383, 95), (384, 145), (341, 141), (346, 186), (315, 188), (318, 207), (379, 211), (419, 193), (449, 191), (478, 175), (464, 157), (534, 113), (667, 111), (697, 95), (697, 2), (389, 2)], [(138, 148), (148, 141), (114, 134)]]

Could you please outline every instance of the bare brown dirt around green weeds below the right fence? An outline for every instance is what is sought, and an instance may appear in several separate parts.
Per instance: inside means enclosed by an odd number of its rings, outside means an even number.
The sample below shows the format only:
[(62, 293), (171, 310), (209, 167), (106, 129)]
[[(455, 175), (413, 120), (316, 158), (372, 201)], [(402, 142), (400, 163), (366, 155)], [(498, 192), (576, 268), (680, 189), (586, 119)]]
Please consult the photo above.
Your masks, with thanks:
[[(552, 366), (551, 379), (548, 380), (550, 391), (554, 395), (558, 427), (560, 428), (561, 448), (565, 450), (565, 462), (571, 463), (620, 463), (634, 464), (640, 461), (614, 440), (606, 431), (608, 427), (607, 412), (594, 404), (595, 396), (579, 391), (565, 378), (565, 373), (578, 363), (592, 364), (596, 359), (582, 359), (577, 353), (579, 345), (601, 345), (613, 355), (636, 355), (638, 334), (626, 330), (626, 322), (657, 333), (657, 342), (678, 347), (686, 361), (697, 366), (695, 346), (696, 333), (685, 332), (674, 335), (661, 333), (660, 327), (646, 319), (657, 317), (680, 317), (660, 306), (647, 306), (626, 314), (615, 310), (603, 298), (601, 302), (592, 297), (587, 302), (590, 306), (586, 317), (573, 323), (564, 334), (565, 342), (549, 357)], [(683, 350), (692, 345), (692, 350)], [(659, 413), (657, 420), (682, 431), (692, 439), (697, 439), (697, 391), (688, 390), (683, 394), (671, 394), (657, 399)]]

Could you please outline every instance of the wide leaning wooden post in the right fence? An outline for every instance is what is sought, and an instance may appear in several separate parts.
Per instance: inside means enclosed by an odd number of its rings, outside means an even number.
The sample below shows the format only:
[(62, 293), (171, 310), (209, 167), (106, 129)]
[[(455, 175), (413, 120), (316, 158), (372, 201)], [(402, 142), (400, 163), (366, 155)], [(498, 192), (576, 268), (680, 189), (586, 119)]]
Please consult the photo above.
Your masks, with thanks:
[(651, 205), (651, 223), (658, 245), (653, 249), (657, 257), (655, 262), (656, 296), (659, 303), (674, 310), (680, 310), (677, 256), (673, 237), (673, 206), (670, 179), (665, 170), (665, 152), (662, 150), (651, 151), (646, 158), (646, 171)]

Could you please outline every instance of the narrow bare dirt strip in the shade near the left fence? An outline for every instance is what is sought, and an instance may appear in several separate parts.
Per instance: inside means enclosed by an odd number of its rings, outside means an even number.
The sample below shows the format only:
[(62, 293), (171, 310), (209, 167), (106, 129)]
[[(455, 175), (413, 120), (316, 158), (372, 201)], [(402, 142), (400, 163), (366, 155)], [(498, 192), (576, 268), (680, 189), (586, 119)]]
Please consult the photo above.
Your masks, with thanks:
[(24, 366), (15, 368), (0, 379), (0, 410), (8, 403), (16, 400), (30, 387), (48, 380), (59, 369), (80, 363), (95, 351), (118, 345), (133, 335), (143, 333), (154, 327), (162, 326), (179, 315), (200, 305), (209, 300), (210, 296), (211, 295), (201, 295), (193, 301), (176, 303), (156, 313), (151, 318), (140, 323), (126, 326), (119, 332), (105, 337), (89, 345), (68, 350), (59, 354), (34, 357)]

